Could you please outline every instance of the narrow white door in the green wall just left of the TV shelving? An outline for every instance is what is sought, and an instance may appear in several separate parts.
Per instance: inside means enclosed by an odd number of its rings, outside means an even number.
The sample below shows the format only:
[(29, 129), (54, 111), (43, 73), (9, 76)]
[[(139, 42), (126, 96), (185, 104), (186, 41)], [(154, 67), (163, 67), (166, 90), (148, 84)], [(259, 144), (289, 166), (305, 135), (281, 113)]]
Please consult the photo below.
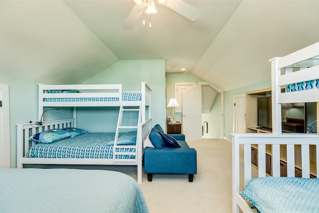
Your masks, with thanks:
[(234, 110), (233, 110), (233, 132), (246, 133), (246, 109), (245, 109), (245, 94), (234, 95)]

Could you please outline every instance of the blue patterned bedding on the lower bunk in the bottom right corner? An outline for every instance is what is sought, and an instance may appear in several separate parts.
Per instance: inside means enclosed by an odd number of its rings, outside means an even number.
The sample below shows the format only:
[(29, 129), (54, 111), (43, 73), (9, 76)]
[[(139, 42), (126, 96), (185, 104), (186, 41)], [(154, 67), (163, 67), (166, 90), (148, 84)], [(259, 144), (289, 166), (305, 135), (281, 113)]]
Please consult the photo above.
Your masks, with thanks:
[(260, 213), (319, 212), (319, 179), (316, 178), (255, 178), (241, 195)]

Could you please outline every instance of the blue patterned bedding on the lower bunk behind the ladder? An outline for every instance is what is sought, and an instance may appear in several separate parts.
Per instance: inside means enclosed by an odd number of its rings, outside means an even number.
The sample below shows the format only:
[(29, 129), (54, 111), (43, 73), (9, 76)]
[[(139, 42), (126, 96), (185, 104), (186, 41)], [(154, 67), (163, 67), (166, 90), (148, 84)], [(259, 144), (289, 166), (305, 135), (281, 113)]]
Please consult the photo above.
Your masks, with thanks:
[[(119, 145), (135, 145), (136, 131), (119, 133)], [(73, 138), (66, 138), (50, 144), (38, 143), (29, 150), (30, 158), (113, 158), (115, 133), (88, 132)], [(117, 149), (118, 151), (118, 149)], [(135, 159), (133, 148), (120, 148), (120, 152), (128, 155), (119, 155), (119, 159)]]

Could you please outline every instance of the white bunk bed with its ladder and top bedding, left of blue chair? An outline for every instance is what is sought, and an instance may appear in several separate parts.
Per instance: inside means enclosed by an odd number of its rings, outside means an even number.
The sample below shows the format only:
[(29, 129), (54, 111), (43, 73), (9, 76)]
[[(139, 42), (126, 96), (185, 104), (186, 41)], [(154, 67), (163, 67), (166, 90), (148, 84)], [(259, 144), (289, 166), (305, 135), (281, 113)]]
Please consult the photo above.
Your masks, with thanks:
[[(66, 91), (66, 92), (65, 92)], [(76, 128), (76, 107), (119, 106), (119, 119), (113, 146), (113, 158), (43, 158), (29, 157), (29, 137), (43, 131)], [(44, 107), (74, 107), (73, 118), (42, 122)], [(125, 107), (134, 107), (125, 108)], [(122, 126), (123, 111), (139, 111), (137, 126)], [(66, 165), (136, 165), (138, 183), (142, 183), (143, 141), (150, 133), (151, 89), (142, 83), (141, 91), (122, 92), (121, 84), (112, 85), (43, 85), (39, 84), (39, 122), (17, 124), (17, 168), (23, 164), (66, 164)], [(117, 144), (120, 129), (136, 129), (136, 143), (130, 146)], [(125, 131), (124, 131), (125, 132)], [(78, 136), (77, 136), (78, 137)], [(123, 149), (130, 150), (123, 153)], [(130, 156), (120, 159), (117, 156)], [(132, 158), (132, 156), (134, 156)]]

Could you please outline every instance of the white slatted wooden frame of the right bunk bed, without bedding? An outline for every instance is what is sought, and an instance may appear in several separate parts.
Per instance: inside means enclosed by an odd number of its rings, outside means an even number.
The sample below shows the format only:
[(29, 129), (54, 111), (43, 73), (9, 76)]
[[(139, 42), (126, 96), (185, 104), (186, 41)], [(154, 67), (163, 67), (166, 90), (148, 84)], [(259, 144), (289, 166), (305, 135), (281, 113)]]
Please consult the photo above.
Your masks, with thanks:
[[(319, 60), (319, 42), (285, 57), (271, 59), (272, 64), (272, 134), (232, 134), (232, 167), (233, 167), (233, 213), (254, 213), (252, 208), (240, 195), (240, 174), (244, 173), (244, 186), (251, 180), (251, 145), (258, 145), (258, 177), (266, 176), (266, 145), (272, 150), (272, 176), (280, 177), (281, 145), (287, 149), (287, 176), (295, 177), (295, 151), (301, 147), (297, 156), (302, 161), (302, 177), (310, 178), (310, 165), (314, 164), (317, 178), (319, 178), (319, 134), (282, 134), (281, 104), (317, 102), (317, 119), (319, 117), (319, 89), (281, 93), (284, 85), (319, 79), (319, 65), (301, 67), (299, 71), (292, 72), (299, 62), (308, 59)], [(318, 64), (318, 63), (317, 63)], [(281, 75), (281, 69), (286, 73)], [(319, 125), (318, 125), (319, 126)], [(317, 128), (319, 129), (319, 127)], [(319, 132), (319, 131), (317, 131)], [(300, 145), (300, 146), (295, 146)], [(312, 153), (310, 154), (310, 147)], [(240, 170), (240, 150), (244, 151), (244, 168)], [(315, 152), (315, 153), (314, 153)], [(299, 152), (296, 152), (299, 153)], [(311, 155), (315, 159), (311, 160)], [(313, 161), (313, 162), (311, 162)]]

